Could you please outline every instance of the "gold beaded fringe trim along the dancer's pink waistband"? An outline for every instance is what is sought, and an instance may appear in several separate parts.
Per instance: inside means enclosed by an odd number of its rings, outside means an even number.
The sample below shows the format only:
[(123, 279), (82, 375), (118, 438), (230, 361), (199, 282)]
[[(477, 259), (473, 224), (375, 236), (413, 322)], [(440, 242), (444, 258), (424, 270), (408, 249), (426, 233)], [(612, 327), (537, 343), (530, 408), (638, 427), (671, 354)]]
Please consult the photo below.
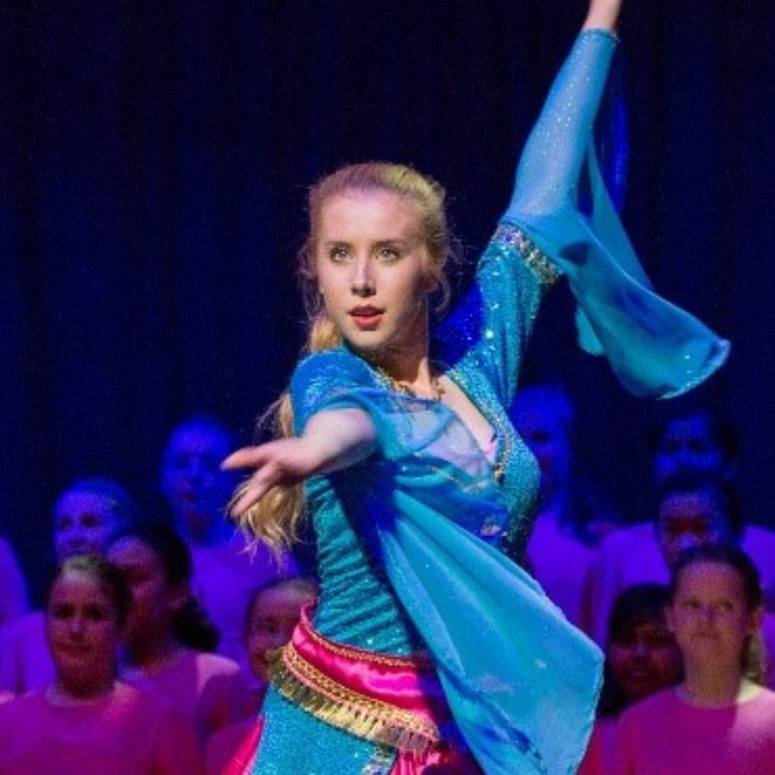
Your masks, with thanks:
[(270, 662), (269, 677), (288, 701), (356, 737), (420, 755), (441, 739), (431, 722), (353, 691), (321, 673), (292, 642)]

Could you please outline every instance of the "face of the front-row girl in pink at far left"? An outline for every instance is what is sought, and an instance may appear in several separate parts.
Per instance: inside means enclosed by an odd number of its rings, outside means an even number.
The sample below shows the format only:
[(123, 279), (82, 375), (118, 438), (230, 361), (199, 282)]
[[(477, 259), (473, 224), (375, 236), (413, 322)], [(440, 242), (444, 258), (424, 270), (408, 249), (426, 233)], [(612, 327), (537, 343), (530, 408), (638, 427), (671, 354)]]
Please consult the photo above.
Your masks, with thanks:
[(46, 630), (57, 674), (70, 691), (88, 694), (112, 680), (122, 628), (98, 580), (78, 570), (62, 574), (51, 589)]

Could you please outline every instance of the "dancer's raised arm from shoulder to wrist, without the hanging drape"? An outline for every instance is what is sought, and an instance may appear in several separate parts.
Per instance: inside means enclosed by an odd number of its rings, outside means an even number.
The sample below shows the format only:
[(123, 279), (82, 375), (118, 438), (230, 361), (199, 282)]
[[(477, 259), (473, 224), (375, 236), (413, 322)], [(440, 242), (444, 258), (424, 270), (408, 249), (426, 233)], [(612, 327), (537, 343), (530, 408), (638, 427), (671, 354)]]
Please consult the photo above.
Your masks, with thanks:
[(615, 50), (619, 5), (619, 0), (592, 3), (525, 144), (512, 201), (482, 257), (477, 283), (437, 332), (443, 360), (474, 358), (504, 405), (514, 398), (543, 291), (562, 274), (547, 241), (536, 244), (532, 227), (549, 220), (542, 236), (560, 243), (553, 239), (556, 220), (564, 227), (564, 213), (577, 209), (575, 192)]

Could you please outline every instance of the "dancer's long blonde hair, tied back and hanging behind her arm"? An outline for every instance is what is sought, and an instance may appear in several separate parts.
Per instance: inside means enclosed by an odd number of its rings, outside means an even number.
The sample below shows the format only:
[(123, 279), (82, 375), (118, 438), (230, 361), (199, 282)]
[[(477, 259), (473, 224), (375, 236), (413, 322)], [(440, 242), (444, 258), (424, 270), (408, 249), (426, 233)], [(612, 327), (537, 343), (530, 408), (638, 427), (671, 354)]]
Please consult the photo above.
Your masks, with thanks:
[[(318, 291), (315, 248), (325, 203), (346, 191), (387, 191), (415, 204), (419, 234), (430, 258), (426, 267), (429, 286), (438, 288), (436, 312), (442, 312), (449, 301), (446, 263), (456, 253), (456, 245), (447, 227), (444, 189), (432, 178), (403, 164), (366, 162), (342, 167), (322, 178), (308, 193), (309, 234), (298, 253), (298, 279), (308, 319), (304, 353), (332, 350), (343, 340), (341, 332), (326, 314)], [(259, 428), (269, 429), (275, 438), (288, 438), (293, 435), (293, 425), (291, 396), (286, 391), (260, 418)], [(281, 553), (298, 538), (304, 515), (301, 485), (274, 487), (247, 509), (239, 522), (251, 536)]]

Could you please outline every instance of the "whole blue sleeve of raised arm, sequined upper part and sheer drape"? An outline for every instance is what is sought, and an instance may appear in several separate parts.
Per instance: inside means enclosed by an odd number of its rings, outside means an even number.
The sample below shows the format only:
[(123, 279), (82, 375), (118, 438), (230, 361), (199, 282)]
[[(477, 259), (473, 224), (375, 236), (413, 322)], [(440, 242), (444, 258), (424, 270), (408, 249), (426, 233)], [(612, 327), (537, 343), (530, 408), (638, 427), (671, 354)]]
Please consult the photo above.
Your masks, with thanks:
[(633, 394), (684, 393), (729, 352), (729, 343), (653, 291), (605, 188), (593, 129), (615, 46), (602, 30), (578, 37), (525, 144), (476, 284), (436, 332), (443, 358), (472, 360), (504, 405), (543, 290), (561, 274), (577, 301), (580, 346), (605, 355)]

